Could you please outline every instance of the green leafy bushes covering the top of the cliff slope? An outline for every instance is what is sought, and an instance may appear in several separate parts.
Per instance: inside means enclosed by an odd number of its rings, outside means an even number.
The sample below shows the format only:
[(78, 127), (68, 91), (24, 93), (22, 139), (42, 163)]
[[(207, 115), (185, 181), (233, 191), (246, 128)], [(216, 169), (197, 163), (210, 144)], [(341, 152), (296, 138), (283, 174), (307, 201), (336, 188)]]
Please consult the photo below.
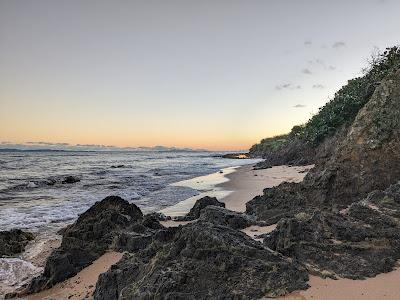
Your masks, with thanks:
[(364, 75), (349, 80), (306, 124), (294, 126), (289, 134), (263, 139), (253, 145), (250, 152), (260, 155), (279, 151), (295, 139), (318, 146), (339, 128), (350, 125), (380, 81), (399, 68), (399, 46), (373, 55), (369, 66), (363, 70)]

